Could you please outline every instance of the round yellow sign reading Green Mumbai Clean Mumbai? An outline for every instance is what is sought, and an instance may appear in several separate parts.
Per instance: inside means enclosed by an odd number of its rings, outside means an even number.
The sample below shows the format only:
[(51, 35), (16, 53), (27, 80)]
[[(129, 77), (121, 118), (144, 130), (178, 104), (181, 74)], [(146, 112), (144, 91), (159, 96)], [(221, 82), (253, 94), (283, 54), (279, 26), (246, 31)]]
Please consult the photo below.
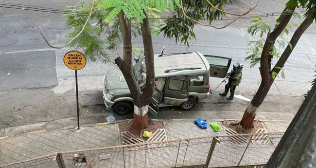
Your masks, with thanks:
[(86, 66), (86, 58), (78, 51), (70, 51), (65, 54), (64, 63), (72, 70), (81, 70)]

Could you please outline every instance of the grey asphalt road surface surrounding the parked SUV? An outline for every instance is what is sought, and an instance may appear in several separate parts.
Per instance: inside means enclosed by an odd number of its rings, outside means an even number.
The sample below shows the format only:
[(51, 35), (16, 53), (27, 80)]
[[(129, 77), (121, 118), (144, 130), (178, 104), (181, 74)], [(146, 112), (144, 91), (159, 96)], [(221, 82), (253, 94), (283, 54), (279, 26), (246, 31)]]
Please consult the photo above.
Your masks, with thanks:
[[(28, 0), (27, 2), (0, 0), (0, 2), (27, 3), (59, 9), (76, 3), (76, 1), (54, 0)], [(252, 5), (247, 3), (247, 0), (238, 0), (234, 3), (239, 7), (227, 6), (234, 12), (237, 12), (237, 9), (243, 9), (244, 6)], [(261, 1), (251, 14), (281, 11), (282, 7), (279, 4), (282, 3), (284, 4), (285, 1), (269, 0), (264, 3)], [(0, 21), (5, 23), (0, 25), (0, 127), (52, 121), (76, 115), (74, 72), (67, 69), (62, 61), (62, 57), (70, 49), (49, 48), (30, 23), (30, 19), (35, 20), (46, 38), (53, 44), (61, 45), (67, 41), (65, 19), (58, 14), (0, 8)], [(275, 18), (265, 19), (273, 23)], [(222, 24), (222, 22), (216, 24)], [(294, 22), (298, 23), (299, 20), (295, 19)], [(238, 61), (244, 64), (244, 78), (237, 89), (237, 94), (251, 98), (259, 86), (260, 75), (258, 67), (250, 69), (249, 63), (244, 61), (246, 41), (253, 39), (246, 33), (248, 25), (248, 20), (245, 19), (238, 20), (232, 26), (222, 30), (197, 26), (196, 40), (191, 41), (191, 48), (188, 50), (209, 55), (229, 56), (232, 57), (233, 62)], [(261, 108), (261, 112), (295, 113), (297, 111), (303, 100), (300, 96), (307, 91), (310, 85), (308, 81), (315, 75), (313, 73), (316, 68), (315, 27), (313, 24), (308, 29), (308, 34), (304, 34), (298, 42), (286, 64), (286, 79), (276, 80), (265, 102), (266, 106)], [(187, 50), (182, 45), (176, 45), (174, 40), (165, 39), (163, 36), (153, 37), (153, 43), (156, 53), (164, 45), (166, 45), (165, 52)], [(136, 38), (134, 44), (141, 46), (141, 39)], [(104, 121), (105, 116), (111, 114), (100, 105), (102, 104), (102, 78), (110, 68), (113, 67), (101, 61), (89, 61), (85, 69), (78, 71), (81, 115), (94, 118), (87, 122)], [(215, 88), (221, 80), (212, 78), (211, 88)], [(223, 90), (223, 86), (217, 92), (220, 90)], [(247, 102), (244, 100), (236, 99), (228, 103), (214, 94), (199, 104), (193, 112), (194, 117), (197, 115), (214, 117), (213, 114), (221, 111), (222, 113), (216, 114), (216, 117), (225, 118), (241, 115), (246, 105)], [(277, 110), (273, 110), (273, 107), (277, 107)], [(190, 112), (180, 113), (176, 109), (162, 109), (162, 116), (159, 117), (193, 117)], [(122, 119), (131, 116), (116, 117)]]

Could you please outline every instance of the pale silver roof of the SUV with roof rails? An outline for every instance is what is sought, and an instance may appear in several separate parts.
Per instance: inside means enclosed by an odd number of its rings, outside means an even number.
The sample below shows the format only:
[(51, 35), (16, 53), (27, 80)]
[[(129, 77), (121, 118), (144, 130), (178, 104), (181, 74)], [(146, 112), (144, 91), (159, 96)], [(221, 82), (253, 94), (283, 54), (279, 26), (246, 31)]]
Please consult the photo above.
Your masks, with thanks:
[[(205, 57), (199, 52), (157, 54), (155, 57), (155, 76), (177, 76), (207, 74), (210, 71), (210, 65)], [(175, 70), (195, 68), (194, 70)], [(167, 71), (166, 70), (172, 70)]]

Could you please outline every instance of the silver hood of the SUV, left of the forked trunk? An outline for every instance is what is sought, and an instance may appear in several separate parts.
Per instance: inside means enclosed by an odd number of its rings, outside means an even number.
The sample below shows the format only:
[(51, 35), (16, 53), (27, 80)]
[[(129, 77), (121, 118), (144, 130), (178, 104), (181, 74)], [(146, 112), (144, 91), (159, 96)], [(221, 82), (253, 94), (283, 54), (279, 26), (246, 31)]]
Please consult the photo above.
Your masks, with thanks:
[(129, 89), (122, 72), (112, 69), (105, 75), (106, 88), (109, 93), (129, 93)]

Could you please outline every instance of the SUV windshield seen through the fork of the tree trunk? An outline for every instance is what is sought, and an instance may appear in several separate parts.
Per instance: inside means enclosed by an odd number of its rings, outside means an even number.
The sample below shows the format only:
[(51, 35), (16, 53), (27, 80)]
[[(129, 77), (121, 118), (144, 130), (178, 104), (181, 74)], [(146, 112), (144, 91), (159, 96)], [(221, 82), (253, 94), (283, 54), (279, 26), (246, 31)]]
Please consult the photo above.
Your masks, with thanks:
[(140, 88), (146, 84), (146, 63), (145, 56), (140, 58), (140, 62), (134, 65), (134, 74)]

